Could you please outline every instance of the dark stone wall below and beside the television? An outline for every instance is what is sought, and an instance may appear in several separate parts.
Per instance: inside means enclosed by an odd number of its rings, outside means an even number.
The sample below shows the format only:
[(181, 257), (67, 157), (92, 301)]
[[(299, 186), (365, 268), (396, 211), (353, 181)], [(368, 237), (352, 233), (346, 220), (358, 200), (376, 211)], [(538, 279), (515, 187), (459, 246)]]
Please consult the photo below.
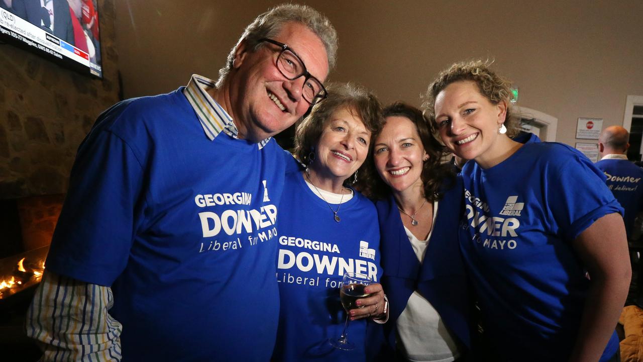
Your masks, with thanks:
[(98, 12), (103, 79), (0, 45), (0, 200), (66, 193), (78, 145), (118, 101), (113, 1)]

